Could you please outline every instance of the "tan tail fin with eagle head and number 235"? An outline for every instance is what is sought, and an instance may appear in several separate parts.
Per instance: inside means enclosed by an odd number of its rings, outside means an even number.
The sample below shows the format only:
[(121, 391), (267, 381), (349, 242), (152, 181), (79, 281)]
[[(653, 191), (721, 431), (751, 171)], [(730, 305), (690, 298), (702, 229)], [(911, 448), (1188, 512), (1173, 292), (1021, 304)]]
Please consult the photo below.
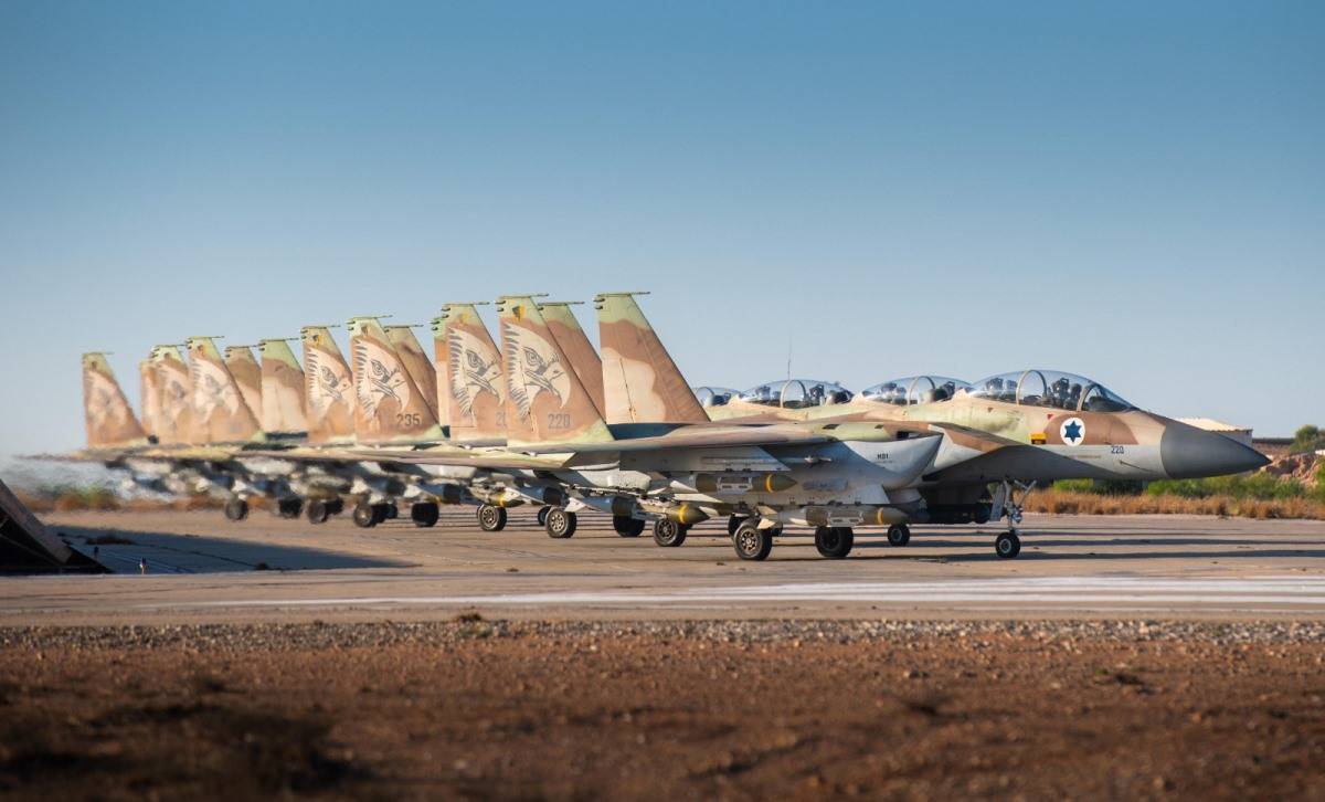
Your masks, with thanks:
[(378, 318), (350, 318), (354, 435), (360, 443), (440, 440), (441, 427)]

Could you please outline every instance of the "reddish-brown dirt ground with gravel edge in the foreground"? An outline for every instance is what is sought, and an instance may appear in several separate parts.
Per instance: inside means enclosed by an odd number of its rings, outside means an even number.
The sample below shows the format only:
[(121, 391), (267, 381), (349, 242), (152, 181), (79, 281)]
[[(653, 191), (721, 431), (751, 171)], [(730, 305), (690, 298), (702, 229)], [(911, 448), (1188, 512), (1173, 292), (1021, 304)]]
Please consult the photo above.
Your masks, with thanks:
[(33, 627), (0, 677), (9, 797), (1325, 797), (1313, 624)]

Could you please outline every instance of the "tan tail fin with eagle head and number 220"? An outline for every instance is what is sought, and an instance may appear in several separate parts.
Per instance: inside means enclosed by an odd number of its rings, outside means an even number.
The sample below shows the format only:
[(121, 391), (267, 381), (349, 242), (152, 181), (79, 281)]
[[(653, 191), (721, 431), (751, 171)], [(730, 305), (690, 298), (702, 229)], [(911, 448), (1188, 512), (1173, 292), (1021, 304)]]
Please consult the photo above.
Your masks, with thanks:
[(511, 445), (607, 443), (612, 433), (530, 296), (497, 302)]

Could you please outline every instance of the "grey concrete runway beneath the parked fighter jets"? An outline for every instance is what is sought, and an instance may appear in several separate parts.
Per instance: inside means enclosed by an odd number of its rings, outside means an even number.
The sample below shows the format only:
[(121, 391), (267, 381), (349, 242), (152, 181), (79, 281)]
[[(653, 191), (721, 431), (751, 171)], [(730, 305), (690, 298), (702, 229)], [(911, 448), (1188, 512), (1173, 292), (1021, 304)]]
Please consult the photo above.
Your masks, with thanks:
[[(0, 579), (0, 623), (163, 623), (445, 618), (1321, 618), (1325, 522), (1186, 516), (1028, 516), (1022, 555), (994, 555), (995, 528), (917, 526), (909, 546), (857, 533), (848, 559), (808, 532), (765, 563), (737, 559), (725, 525), (680, 549), (617, 537), (580, 516), (550, 540), (533, 510), (484, 533), (470, 508), (433, 529), (362, 530), (257, 512), (70, 513), (48, 524), (130, 571)], [(109, 537), (107, 537), (109, 536)], [(138, 574), (146, 558), (148, 574)], [(261, 570), (270, 569), (270, 570)]]

